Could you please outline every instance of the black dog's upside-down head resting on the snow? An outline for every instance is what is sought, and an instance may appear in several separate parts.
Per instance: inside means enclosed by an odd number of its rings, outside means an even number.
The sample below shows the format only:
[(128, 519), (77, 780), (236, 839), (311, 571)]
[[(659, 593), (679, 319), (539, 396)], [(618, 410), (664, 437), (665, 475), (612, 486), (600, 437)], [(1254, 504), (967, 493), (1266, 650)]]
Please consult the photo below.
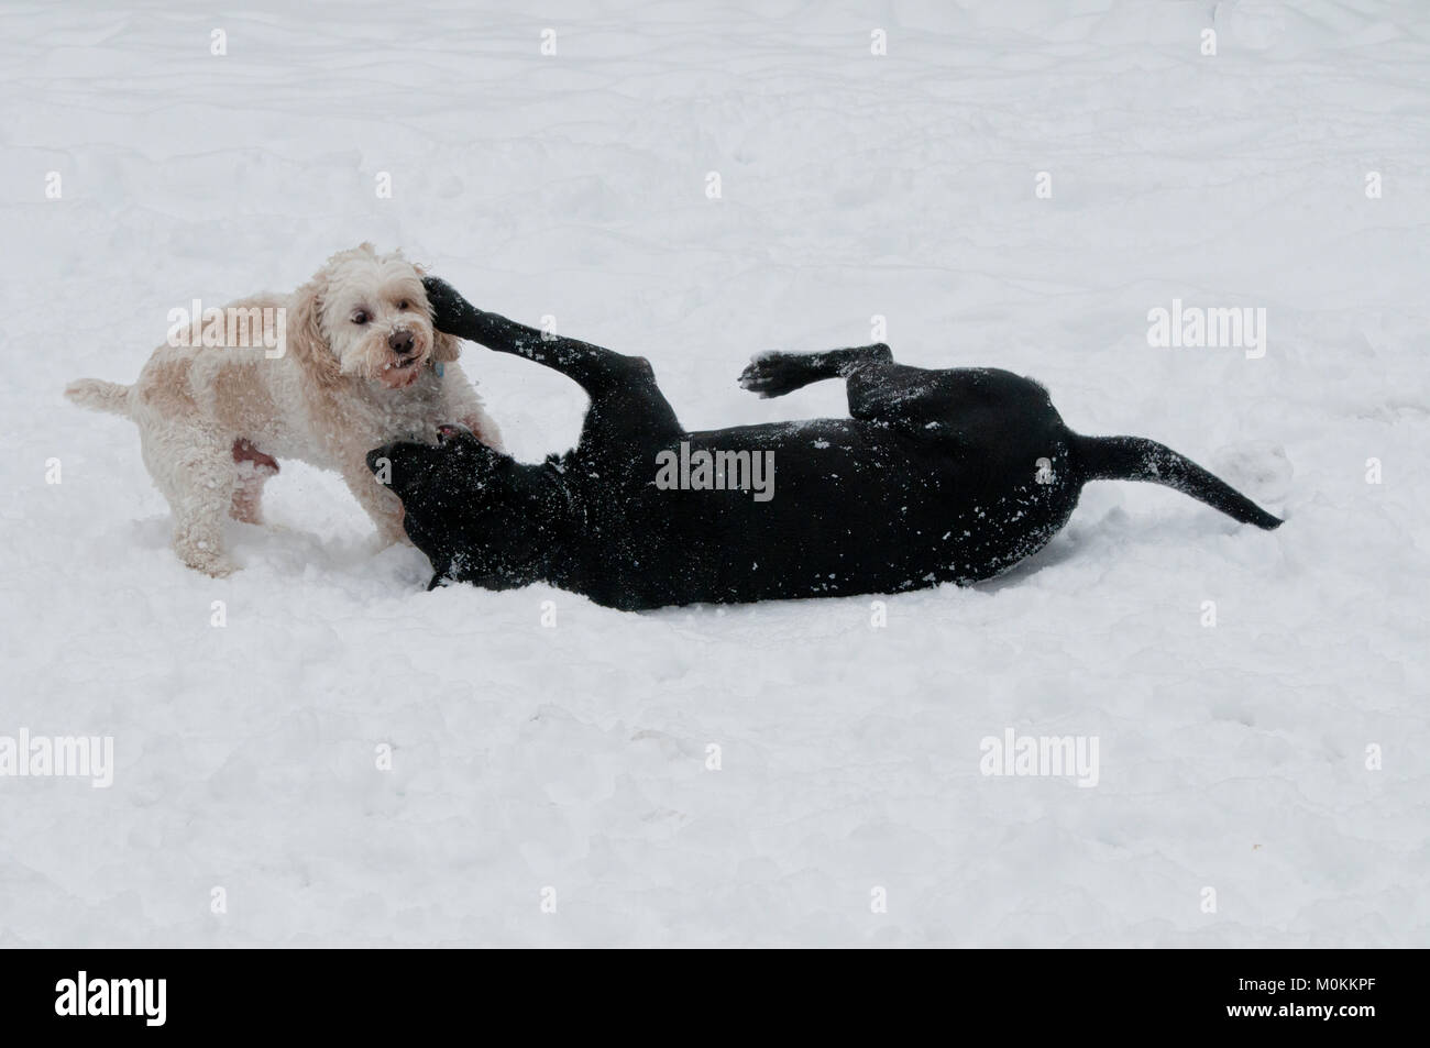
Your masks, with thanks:
[(542, 468), (442, 426), (436, 446), (398, 440), (368, 452), (368, 469), (402, 499), (403, 528), (432, 562), (433, 586), (512, 589), (545, 578), (563, 500)]

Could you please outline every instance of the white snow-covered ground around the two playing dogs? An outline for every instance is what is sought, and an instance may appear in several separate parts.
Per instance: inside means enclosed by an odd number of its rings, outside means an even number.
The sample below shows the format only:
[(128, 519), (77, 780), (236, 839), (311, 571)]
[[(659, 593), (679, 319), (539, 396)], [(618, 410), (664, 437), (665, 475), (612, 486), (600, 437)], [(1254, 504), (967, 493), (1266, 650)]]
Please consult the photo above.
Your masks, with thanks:
[[(0, 735), (117, 765), (0, 778), (0, 944), (1430, 944), (1426, 7), (543, 7), (0, 11)], [(635, 616), (425, 593), (286, 465), (245, 569), (183, 569), (132, 426), (61, 387), (365, 239), (649, 356), (691, 427), (842, 413), (734, 379), (882, 315), (1288, 522), (1094, 485), (882, 629)], [(1266, 356), (1150, 347), (1174, 297), (1266, 307)], [(522, 458), (569, 445), (573, 386), (466, 360)], [(984, 776), (1008, 728), (1097, 736), (1098, 785)]]

